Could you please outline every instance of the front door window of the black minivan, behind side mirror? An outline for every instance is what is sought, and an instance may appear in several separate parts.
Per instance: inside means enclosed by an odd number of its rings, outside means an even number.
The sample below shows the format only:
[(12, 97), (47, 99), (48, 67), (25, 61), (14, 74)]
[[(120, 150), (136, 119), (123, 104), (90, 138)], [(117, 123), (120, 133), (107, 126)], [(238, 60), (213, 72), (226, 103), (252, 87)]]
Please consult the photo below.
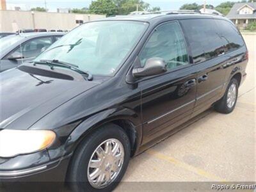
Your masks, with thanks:
[(169, 22), (156, 28), (139, 58), (142, 67), (150, 58), (163, 58), (168, 69), (188, 65), (188, 52), (179, 24)]

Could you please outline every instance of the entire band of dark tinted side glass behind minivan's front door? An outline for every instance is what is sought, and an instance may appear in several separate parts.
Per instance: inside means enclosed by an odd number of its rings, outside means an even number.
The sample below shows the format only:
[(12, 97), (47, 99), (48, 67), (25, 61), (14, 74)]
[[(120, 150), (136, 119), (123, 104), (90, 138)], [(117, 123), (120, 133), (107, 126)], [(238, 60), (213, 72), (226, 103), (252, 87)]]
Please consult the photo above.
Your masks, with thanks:
[(216, 58), (243, 46), (239, 31), (227, 20), (181, 20), (194, 63)]

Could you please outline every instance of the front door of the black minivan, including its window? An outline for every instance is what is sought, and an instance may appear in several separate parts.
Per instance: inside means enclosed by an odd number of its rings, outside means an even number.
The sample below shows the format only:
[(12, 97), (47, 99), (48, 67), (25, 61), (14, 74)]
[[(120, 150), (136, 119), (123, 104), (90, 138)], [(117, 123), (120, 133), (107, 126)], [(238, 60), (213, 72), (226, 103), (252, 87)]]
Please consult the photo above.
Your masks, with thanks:
[(143, 144), (188, 120), (195, 105), (196, 72), (178, 22), (158, 26), (139, 54), (142, 66), (156, 57), (166, 61), (168, 71), (140, 82)]

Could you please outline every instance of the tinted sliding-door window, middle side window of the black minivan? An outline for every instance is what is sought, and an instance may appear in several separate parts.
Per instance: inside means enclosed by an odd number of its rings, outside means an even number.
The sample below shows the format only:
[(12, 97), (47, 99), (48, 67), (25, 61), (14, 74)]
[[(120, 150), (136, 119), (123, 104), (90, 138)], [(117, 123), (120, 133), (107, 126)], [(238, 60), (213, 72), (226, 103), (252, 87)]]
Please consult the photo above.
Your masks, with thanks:
[(180, 22), (188, 37), (194, 63), (210, 60), (225, 52), (213, 19), (188, 19)]

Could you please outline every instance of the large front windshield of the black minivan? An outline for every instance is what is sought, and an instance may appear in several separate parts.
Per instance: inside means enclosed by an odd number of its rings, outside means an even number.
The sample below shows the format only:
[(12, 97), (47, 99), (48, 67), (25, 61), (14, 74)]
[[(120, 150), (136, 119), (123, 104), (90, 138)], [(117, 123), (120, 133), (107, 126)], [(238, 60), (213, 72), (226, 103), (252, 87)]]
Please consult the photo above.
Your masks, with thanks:
[(58, 60), (92, 74), (113, 76), (147, 26), (124, 20), (88, 22), (52, 44), (35, 61)]

